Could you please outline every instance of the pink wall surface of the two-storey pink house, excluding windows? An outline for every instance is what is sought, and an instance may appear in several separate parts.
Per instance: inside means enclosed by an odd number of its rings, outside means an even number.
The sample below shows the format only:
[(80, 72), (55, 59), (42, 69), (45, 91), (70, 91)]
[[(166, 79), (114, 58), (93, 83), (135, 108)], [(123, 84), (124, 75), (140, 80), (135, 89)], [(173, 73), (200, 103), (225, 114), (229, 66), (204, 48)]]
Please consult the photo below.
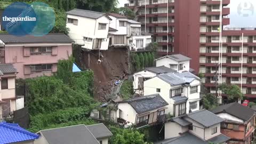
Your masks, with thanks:
[[(57, 54), (30, 55), (29, 47), (33, 46), (55, 46), (56, 48), (54, 49), (57, 49), (55, 50), (57, 51)], [(25, 49), (28, 49), (26, 50), (28, 52), (26, 55), (24, 52)], [(13, 66), (19, 71), (17, 78), (31, 78), (43, 75), (52, 75), (53, 71), (25, 74), (25, 65), (57, 64), (58, 60), (68, 59), (71, 54), (71, 43), (32, 43), (5, 45), (5, 63), (13, 63)], [(57, 65), (53, 65), (53, 68), (54, 67), (56, 68), (55, 70), (57, 70)]]

